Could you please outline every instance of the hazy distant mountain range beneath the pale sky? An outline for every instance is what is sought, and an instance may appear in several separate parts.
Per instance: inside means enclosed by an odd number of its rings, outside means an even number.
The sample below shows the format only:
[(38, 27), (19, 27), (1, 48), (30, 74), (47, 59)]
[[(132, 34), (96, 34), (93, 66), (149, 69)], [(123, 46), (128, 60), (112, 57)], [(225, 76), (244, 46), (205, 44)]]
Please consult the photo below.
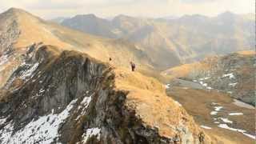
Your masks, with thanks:
[(254, 14), (226, 12), (213, 18), (194, 14), (155, 19), (118, 15), (112, 20), (83, 14), (66, 18), (61, 24), (89, 34), (134, 42), (161, 69), (210, 54), (252, 50), (255, 44)]

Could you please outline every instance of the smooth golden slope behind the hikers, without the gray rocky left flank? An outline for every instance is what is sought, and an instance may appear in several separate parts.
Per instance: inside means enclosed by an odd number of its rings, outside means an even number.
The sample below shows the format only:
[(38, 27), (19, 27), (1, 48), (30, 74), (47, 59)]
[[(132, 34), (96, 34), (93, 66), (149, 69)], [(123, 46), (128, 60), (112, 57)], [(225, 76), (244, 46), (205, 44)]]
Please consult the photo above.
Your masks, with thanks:
[(112, 64), (115, 66), (129, 66), (130, 61), (138, 65), (150, 66), (150, 60), (146, 54), (129, 42), (100, 38), (70, 30), (46, 22), (24, 10), (13, 8), (2, 15), (9, 15), (18, 24), (20, 34), (14, 47), (25, 47), (34, 42), (43, 42), (61, 47), (63, 50), (85, 52), (103, 62), (107, 62), (111, 57)]

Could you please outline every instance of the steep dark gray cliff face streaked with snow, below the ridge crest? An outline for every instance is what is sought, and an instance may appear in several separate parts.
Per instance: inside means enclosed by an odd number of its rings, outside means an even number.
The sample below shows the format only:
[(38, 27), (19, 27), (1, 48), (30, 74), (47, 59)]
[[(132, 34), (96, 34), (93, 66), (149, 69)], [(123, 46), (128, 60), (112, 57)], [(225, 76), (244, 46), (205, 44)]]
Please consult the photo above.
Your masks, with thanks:
[[(114, 89), (109, 66), (78, 52), (38, 47), (30, 47), (0, 93), (0, 143), (174, 142), (127, 109), (128, 92)], [(181, 139), (199, 143), (181, 130)]]

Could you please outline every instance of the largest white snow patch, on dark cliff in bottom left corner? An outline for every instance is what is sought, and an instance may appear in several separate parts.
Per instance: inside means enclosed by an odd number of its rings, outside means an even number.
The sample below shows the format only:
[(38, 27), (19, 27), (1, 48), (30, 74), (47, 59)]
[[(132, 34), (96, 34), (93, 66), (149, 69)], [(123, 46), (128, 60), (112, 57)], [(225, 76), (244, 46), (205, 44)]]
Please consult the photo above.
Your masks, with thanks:
[(37, 143), (50, 144), (58, 138), (58, 128), (69, 117), (70, 110), (73, 108), (77, 99), (70, 102), (66, 109), (60, 114), (54, 114), (54, 110), (49, 115), (32, 120), (21, 130), (13, 133), (13, 124), (11, 122), (0, 130), (0, 140), (2, 143)]

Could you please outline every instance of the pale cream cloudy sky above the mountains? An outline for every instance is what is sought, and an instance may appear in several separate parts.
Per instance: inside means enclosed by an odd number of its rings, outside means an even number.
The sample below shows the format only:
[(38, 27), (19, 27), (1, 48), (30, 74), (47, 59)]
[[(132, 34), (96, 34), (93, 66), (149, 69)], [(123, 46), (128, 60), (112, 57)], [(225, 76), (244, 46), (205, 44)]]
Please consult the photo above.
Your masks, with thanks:
[(0, 13), (16, 7), (47, 19), (76, 14), (162, 18), (184, 14), (215, 16), (225, 11), (255, 13), (255, 0), (0, 0), (0, 3)]

